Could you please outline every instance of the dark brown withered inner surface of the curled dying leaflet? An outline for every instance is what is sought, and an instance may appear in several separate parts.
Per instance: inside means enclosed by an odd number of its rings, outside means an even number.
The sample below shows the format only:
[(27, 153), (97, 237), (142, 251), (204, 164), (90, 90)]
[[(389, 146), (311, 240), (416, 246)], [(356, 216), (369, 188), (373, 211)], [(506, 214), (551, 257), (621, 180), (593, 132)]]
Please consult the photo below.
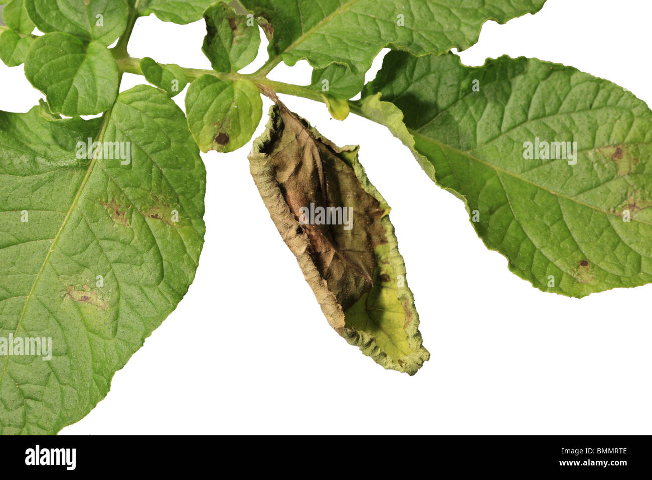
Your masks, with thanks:
[(273, 162), (276, 182), (297, 221), (301, 209), (311, 204), (324, 210), (352, 208), (350, 230), (344, 225), (301, 225), (312, 261), (346, 312), (374, 285), (375, 250), (387, 243), (380, 222), (385, 209), (364, 191), (340, 149), (309, 129), (284, 104), (278, 103), (277, 108), (276, 120), (282, 122), (282, 128), (261, 153)]

